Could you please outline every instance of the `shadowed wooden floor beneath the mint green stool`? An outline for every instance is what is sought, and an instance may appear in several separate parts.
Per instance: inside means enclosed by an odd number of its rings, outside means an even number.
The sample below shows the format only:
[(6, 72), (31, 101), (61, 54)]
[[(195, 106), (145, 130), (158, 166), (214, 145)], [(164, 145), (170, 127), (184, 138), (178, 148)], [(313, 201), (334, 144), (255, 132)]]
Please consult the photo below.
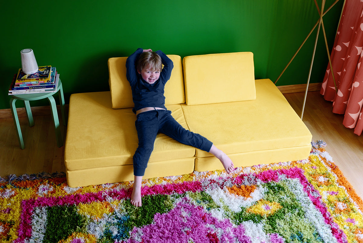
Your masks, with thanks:
[[(33, 115), (40, 113), (36, 110), (34, 112), (33, 108), (32, 111)], [(48, 173), (65, 172), (64, 146), (57, 146), (50, 110), (49, 115), (33, 116), (34, 126), (32, 127), (29, 127), (24, 110), (23, 114), (21, 111), (18, 114), (25, 149), (22, 150), (19, 147), (13, 118), (0, 119), (0, 176), (4, 177), (10, 174), (19, 176), (42, 171)], [(62, 135), (65, 138), (66, 126), (62, 125), (60, 114), (58, 117), (60, 118)]]

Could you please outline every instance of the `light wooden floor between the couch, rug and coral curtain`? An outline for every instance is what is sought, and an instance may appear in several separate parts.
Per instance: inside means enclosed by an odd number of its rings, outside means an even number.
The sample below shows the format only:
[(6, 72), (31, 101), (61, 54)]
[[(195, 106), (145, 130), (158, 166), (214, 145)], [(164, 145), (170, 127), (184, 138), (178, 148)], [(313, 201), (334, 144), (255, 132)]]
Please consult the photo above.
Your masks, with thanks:
[[(284, 94), (299, 116), (304, 94)], [(327, 143), (325, 150), (363, 199), (363, 134), (358, 136), (353, 133), (354, 129), (344, 127), (344, 115), (334, 114), (332, 104), (325, 101), (318, 91), (308, 92), (303, 122), (314, 141), (321, 139)]]

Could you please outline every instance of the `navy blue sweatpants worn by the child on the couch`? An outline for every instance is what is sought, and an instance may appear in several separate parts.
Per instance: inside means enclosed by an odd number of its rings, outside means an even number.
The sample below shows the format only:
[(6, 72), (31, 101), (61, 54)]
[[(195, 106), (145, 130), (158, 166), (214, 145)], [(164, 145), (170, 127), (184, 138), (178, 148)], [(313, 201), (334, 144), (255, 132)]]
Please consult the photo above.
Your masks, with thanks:
[(143, 176), (158, 132), (168, 135), (180, 143), (209, 152), (212, 142), (207, 138), (184, 129), (171, 116), (170, 110), (151, 110), (136, 116), (135, 122), (139, 147), (134, 154), (134, 175)]

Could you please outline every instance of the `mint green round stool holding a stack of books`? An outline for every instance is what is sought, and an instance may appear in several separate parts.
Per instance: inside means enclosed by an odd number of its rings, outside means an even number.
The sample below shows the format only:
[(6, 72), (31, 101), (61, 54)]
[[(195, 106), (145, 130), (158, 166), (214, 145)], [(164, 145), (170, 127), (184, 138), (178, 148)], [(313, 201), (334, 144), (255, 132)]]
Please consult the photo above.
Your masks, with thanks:
[(56, 101), (53, 98), (53, 94), (56, 94), (58, 92), (59, 95), (59, 102), (61, 106), (61, 113), (62, 113), (62, 119), (63, 119), (63, 125), (66, 126), (66, 118), (64, 114), (64, 95), (63, 95), (63, 88), (62, 88), (62, 82), (59, 79), (57, 89), (54, 92), (50, 93), (33, 93), (33, 94), (18, 94), (18, 95), (12, 95), (10, 98), (10, 109), (11, 113), (13, 115), (14, 124), (16, 128), (16, 133), (18, 135), (19, 139), (19, 146), (21, 149), (24, 149), (24, 141), (23, 141), (23, 135), (21, 134), (20, 124), (19, 124), (19, 117), (18, 113), (16, 111), (15, 102), (17, 100), (23, 100), (25, 104), (25, 111), (28, 116), (29, 126), (34, 126), (34, 120), (32, 115), (32, 110), (30, 109), (29, 101), (33, 100), (41, 100), (44, 98), (48, 98), (49, 104), (50, 104), (50, 110), (52, 112), (52, 118), (54, 122), (54, 129), (56, 130), (56, 138), (57, 138), (57, 145), (58, 147), (63, 146), (63, 139), (61, 134), (61, 128), (59, 125), (59, 119), (58, 119), (58, 113), (57, 113), (57, 105)]

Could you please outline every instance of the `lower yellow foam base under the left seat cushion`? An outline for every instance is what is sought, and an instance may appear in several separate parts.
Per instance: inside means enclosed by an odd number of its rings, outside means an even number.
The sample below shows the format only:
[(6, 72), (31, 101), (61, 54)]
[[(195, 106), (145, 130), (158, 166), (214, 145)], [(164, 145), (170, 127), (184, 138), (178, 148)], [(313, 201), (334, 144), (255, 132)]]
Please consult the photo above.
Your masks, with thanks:
[[(143, 179), (190, 174), (194, 169), (195, 157), (148, 163)], [(178, 169), (176, 169), (178, 168)], [(134, 180), (132, 165), (98, 167), (84, 170), (67, 170), (70, 187), (101, 185)]]

